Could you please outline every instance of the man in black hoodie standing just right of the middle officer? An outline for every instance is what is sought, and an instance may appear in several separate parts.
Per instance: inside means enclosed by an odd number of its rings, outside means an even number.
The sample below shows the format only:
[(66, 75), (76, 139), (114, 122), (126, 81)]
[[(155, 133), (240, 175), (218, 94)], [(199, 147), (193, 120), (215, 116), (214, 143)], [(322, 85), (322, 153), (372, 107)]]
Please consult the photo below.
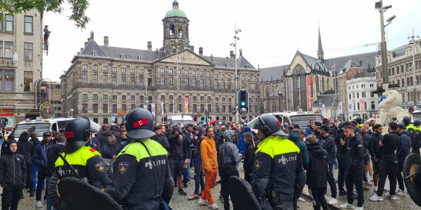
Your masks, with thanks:
[[(182, 189), (181, 175), (183, 174), (183, 164), (188, 162), (187, 145), (185, 138), (180, 134), (180, 128), (174, 126), (172, 134), (168, 136), (169, 154), (168, 161), (171, 175), (174, 178), (174, 187), (178, 184), (178, 194), (187, 195)], [(177, 182), (177, 183), (176, 183)]]

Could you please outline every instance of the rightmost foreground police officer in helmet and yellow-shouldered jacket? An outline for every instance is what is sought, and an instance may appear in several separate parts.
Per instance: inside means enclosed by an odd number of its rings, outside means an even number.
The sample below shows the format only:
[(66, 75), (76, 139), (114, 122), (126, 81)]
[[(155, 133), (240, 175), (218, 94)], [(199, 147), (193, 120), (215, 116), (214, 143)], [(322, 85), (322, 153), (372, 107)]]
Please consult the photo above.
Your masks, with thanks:
[(253, 128), (263, 139), (254, 159), (253, 192), (262, 208), (292, 210), (295, 181), (306, 177), (300, 149), (286, 138), (281, 123), (271, 114), (259, 116)]

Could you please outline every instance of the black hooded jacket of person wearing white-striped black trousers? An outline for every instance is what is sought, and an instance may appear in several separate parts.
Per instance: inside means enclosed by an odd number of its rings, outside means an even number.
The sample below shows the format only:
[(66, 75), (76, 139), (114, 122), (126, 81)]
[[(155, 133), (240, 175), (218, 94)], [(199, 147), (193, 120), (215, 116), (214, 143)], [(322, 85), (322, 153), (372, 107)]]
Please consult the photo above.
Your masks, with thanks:
[(309, 152), (309, 165), (307, 169), (306, 184), (309, 187), (326, 187), (327, 152), (321, 148), (318, 142), (307, 145)]

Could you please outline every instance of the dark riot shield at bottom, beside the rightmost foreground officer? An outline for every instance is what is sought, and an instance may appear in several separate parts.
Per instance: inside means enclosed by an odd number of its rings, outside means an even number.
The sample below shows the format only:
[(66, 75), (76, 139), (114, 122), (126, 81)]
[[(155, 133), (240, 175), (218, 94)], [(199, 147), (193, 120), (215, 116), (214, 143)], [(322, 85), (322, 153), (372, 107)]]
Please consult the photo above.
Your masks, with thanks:
[(228, 180), (228, 193), (234, 210), (262, 210), (252, 186), (246, 180), (231, 176)]

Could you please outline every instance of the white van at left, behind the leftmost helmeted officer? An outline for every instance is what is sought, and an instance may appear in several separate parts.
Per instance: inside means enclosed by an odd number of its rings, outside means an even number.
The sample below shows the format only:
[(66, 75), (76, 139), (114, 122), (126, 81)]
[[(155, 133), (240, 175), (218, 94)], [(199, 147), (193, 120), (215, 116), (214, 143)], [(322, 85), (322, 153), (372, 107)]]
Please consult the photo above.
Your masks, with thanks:
[(25, 130), (29, 133), (36, 132), (38, 139), (41, 141), (45, 132), (57, 132), (57, 130), (65, 128), (67, 123), (73, 119), (74, 118), (55, 118), (42, 120), (28, 119), (26, 121), (20, 122), (16, 127), (14, 127), (12, 134), (15, 135), (16, 140), (18, 140), (20, 134)]

